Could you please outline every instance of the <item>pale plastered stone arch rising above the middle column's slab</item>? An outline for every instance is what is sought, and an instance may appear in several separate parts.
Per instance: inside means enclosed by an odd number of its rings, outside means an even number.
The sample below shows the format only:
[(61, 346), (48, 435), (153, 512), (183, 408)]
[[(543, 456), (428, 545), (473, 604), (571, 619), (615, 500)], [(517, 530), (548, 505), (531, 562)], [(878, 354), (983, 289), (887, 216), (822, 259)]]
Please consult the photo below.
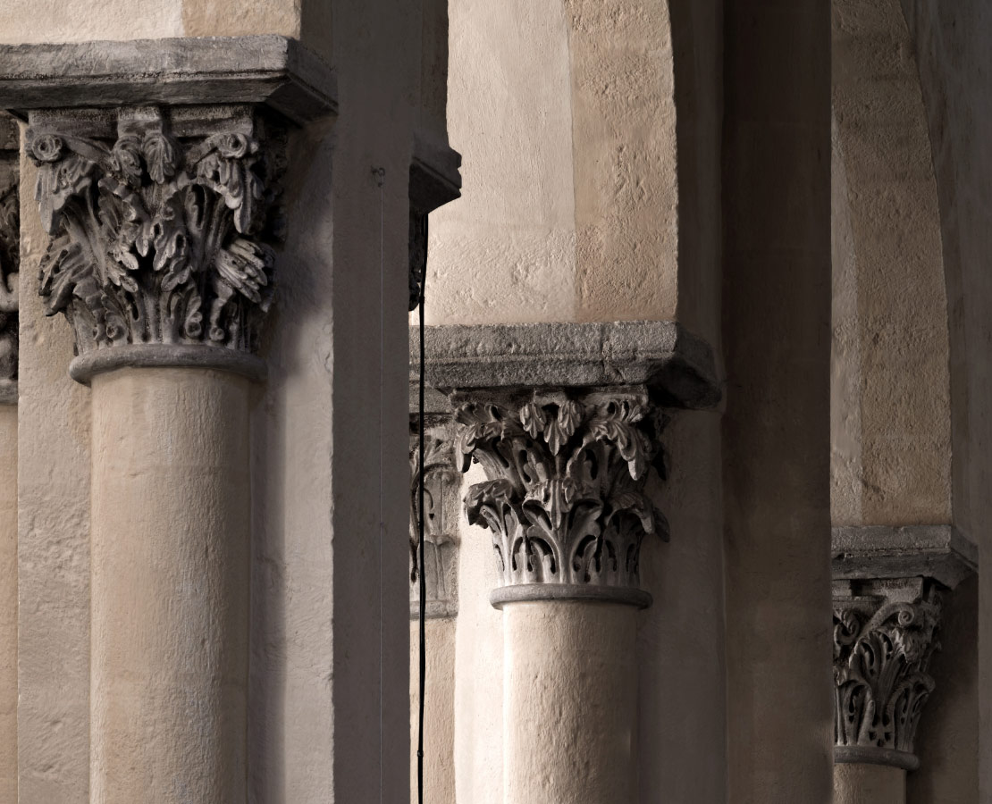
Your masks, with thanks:
[(450, 7), (462, 197), (431, 218), (429, 323), (672, 319), (669, 0)]

